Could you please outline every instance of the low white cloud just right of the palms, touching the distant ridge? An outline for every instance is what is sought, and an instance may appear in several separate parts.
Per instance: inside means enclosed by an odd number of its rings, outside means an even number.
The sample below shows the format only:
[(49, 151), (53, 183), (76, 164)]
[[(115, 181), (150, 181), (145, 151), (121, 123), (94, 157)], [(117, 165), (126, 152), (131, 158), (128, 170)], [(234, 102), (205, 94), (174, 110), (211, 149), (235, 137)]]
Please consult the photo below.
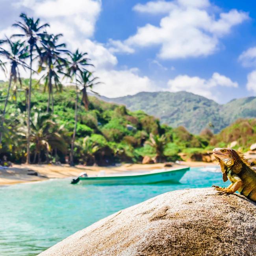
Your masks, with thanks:
[(147, 76), (139, 76), (137, 69), (98, 70), (97, 76), (103, 84), (95, 86), (95, 91), (107, 97), (134, 95), (141, 91), (155, 91), (155, 84)]

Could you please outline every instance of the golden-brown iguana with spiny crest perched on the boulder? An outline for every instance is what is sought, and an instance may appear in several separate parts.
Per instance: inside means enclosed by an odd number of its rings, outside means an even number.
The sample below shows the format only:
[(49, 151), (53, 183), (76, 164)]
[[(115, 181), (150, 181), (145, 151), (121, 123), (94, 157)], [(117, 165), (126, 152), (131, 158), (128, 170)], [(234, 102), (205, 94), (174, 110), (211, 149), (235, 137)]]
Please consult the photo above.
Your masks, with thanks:
[(218, 193), (235, 193), (256, 201), (256, 169), (250, 167), (250, 163), (243, 154), (230, 148), (214, 148), (213, 156), (219, 161), (223, 174), (223, 181), (232, 182), (228, 187), (213, 186)]

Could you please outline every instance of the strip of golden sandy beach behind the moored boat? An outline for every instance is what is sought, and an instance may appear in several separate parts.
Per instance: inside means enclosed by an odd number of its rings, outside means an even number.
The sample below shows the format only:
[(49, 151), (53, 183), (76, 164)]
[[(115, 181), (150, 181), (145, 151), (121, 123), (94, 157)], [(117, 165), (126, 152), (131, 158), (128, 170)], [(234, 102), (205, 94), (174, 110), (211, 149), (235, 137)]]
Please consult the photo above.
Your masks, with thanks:
[[(80, 173), (86, 172), (89, 175), (97, 175), (100, 171), (105, 171), (106, 174), (115, 174), (121, 172), (132, 172), (132, 171), (149, 171), (152, 169), (169, 169), (170, 167), (165, 167), (164, 163), (155, 164), (129, 164), (125, 163), (120, 166), (84, 166), (76, 165), (70, 167), (67, 164), (61, 165), (27, 165), (14, 164), (12, 167), (7, 167), (6, 169), (0, 169), (0, 186), (10, 186), (15, 184), (30, 183), (30, 182), (41, 182), (50, 180), (52, 178), (72, 178), (78, 176)], [(192, 161), (181, 161), (179, 164), (173, 164), (173, 167), (179, 166), (189, 166), (189, 167), (208, 167), (216, 166), (216, 163), (206, 163), (206, 162), (192, 162)], [(39, 174), (39, 176), (28, 175), (28, 170), (33, 170)]]

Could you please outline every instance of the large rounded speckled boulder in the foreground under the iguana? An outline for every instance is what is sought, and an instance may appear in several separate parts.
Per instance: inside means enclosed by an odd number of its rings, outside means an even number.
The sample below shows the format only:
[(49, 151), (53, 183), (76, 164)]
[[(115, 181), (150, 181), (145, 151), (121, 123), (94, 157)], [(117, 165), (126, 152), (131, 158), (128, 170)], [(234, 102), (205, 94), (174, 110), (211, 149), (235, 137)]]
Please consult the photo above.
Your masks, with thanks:
[(184, 189), (114, 213), (40, 255), (252, 256), (255, 223), (256, 204), (241, 195)]

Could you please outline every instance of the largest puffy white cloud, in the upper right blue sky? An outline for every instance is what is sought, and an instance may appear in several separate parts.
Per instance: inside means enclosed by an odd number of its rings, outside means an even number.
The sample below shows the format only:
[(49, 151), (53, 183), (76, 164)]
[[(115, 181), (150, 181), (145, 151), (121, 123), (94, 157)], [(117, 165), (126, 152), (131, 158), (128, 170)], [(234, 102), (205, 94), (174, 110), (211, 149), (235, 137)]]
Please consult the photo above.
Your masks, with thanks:
[(165, 10), (165, 5), (169, 6), (169, 9), (166, 7), (169, 15), (161, 19), (159, 26), (146, 24), (138, 28), (124, 44), (130, 47), (159, 45), (158, 56), (162, 59), (208, 56), (218, 49), (221, 37), (248, 19), (248, 13), (236, 9), (213, 15), (208, 12), (210, 3), (206, 0), (156, 1), (134, 8), (141, 12), (160, 13), (161, 9)]

